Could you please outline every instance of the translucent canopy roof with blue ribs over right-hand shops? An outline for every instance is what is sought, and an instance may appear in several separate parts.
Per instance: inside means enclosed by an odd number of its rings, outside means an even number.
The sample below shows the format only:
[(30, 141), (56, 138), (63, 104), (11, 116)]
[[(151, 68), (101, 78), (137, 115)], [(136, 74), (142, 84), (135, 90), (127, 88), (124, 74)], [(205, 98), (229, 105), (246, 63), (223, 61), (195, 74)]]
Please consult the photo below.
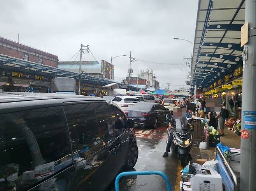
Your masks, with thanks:
[(245, 0), (199, 0), (190, 85), (200, 88), (242, 65)]

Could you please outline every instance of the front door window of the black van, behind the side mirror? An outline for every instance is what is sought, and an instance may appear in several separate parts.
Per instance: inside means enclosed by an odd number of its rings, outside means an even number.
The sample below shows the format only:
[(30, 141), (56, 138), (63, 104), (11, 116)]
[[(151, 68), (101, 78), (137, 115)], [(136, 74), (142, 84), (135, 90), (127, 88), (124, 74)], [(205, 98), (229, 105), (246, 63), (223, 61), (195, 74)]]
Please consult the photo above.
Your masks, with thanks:
[[(114, 107), (112, 105), (109, 105), (109, 112), (111, 115), (115, 136), (118, 137), (120, 134), (122, 134), (125, 131), (127, 127), (126, 115), (124, 115), (124, 113), (121, 112), (117, 107)], [(117, 120), (121, 120), (123, 124), (123, 128), (116, 128), (115, 123)]]

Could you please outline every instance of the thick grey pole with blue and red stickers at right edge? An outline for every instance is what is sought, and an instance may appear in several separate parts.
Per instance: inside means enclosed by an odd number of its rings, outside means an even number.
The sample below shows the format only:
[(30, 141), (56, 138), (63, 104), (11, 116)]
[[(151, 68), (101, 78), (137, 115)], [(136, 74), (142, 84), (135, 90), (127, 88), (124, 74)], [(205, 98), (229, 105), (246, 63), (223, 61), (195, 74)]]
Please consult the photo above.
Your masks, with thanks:
[[(255, 190), (256, 181), (256, 2), (245, 0), (248, 43), (243, 51), (243, 96), (240, 190)], [(248, 29), (247, 29), (248, 30)], [(247, 35), (248, 35), (247, 34)]]

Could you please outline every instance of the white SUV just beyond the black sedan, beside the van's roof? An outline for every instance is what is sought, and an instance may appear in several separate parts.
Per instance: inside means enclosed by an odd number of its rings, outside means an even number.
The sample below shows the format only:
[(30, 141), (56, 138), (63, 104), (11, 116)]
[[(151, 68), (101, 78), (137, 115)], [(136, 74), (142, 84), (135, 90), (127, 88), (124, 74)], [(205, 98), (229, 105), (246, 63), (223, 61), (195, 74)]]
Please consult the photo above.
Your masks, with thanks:
[(116, 103), (122, 110), (126, 110), (134, 105), (135, 103), (139, 103), (139, 99), (135, 96), (116, 96), (112, 100), (112, 102)]

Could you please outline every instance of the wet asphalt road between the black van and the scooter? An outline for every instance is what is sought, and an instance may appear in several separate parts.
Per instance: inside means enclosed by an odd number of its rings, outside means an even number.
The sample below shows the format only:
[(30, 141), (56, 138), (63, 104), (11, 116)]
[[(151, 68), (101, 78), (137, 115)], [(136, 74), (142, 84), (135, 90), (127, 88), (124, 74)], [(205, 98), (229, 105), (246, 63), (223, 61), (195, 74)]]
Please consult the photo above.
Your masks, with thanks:
[[(133, 170), (164, 172), (170, 179), (172, 190), (179, 190), (182, 167), (178, 158), (172, 153), (169, 153), (168, 157), (162, 157), (166, 148), (166, 129), (165, 123), (159, 124), (156, 129), (135, 127), (139, 158)], [(196, 155), (200, 156), (198, 145), (193, 145), (190, 153), (193, 159)], [(166, 190), (166, 184), (160, 176), (133, 176), (121, 178), (119, 188), (121, 191), (163, 191)], [(114, 185), (108, 189), (108, 191), (114, 190)]]

